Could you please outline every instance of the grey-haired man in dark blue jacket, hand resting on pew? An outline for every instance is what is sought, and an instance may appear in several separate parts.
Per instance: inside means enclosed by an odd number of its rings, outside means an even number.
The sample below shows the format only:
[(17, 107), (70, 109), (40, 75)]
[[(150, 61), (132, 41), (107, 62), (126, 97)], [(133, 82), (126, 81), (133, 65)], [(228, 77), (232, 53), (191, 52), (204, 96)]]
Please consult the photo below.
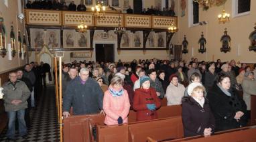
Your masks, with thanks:
[(99, 113), (103, 110), (103, 91), (99, 84), (88, 76), (88, 68), (81, 68), (79, 76), (68, 84), (63, 98), (64, 117), (70, 116), (71, 106), (74, 115)]

